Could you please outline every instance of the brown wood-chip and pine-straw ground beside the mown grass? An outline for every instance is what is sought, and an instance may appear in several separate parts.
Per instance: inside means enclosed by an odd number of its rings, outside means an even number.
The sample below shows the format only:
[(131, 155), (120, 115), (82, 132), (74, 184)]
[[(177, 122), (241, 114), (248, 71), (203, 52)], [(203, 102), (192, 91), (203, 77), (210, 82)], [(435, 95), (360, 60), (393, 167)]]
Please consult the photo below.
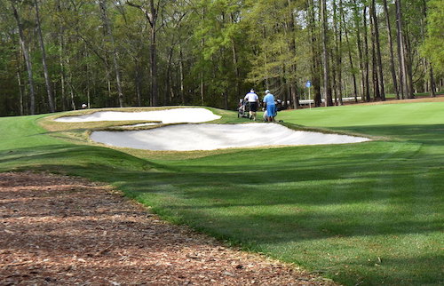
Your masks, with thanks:
[(1, 285), (333, 285), (173, 226), (108, 187), (0, 173)]

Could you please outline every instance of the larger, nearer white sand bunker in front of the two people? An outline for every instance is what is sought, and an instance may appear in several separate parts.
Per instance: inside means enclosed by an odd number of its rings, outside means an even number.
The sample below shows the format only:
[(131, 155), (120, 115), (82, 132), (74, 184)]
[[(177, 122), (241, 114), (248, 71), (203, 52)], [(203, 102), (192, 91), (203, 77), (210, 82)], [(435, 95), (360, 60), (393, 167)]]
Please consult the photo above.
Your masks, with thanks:
[(344, 144), (368, 138), (293, 131), (276, 123), (182, 124), (145, 131), (94, 131), (91, 139), (114, 147), (157, 151), (215, 150), (233, 147)]

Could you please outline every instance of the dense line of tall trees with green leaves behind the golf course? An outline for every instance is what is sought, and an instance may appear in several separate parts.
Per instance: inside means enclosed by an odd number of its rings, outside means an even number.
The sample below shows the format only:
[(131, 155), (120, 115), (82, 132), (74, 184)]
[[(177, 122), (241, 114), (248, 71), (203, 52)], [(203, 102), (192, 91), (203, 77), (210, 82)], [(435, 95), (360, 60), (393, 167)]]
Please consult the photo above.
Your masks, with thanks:
[(441, 0), (0, 0), (0, 115), (443, 87)]

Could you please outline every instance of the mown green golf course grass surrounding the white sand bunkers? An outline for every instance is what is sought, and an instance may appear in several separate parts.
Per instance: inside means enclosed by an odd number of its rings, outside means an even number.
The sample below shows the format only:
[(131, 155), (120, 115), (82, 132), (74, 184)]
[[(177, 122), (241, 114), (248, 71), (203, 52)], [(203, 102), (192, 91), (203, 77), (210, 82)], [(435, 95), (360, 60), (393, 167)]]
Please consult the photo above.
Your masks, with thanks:
[[(204, 156), (135, 157), (49, 137), (38, 116), (0, 118), (1, 134), (9, 134), (0, 141), (0, 171), (59, 170), (109, 182), (163, 218), (346, 285), (440, 284), (443, 110), (435, 102), (286, 111), (278, 119), (295, 128), (376, 139)], [(219, 122), (242, 121), (234, 116)]]

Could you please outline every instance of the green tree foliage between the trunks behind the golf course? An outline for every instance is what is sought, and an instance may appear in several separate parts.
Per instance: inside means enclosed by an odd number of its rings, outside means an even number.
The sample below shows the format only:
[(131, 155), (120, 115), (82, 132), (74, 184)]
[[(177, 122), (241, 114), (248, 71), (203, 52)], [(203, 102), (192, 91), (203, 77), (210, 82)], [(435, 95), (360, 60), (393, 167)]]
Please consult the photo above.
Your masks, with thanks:
[[(34, 2), (13, 2), (17, 5), (35, 69), (36, 106), (38, 112), (47, 112), (40, 44), (35, 36)], [(107, 14), (115, 42), (113, 45), (104, 29), (98, 2), (47, 0), (39, 3), (47, 62), (58, 111), (71, 109), (71, 101), (78, 107), (87, 99), (88, 93), (94, 107), (115, 107), (119, 104), (114, 48), (122, 77), (124, 101), (128, 106), (139, 105), (139, 96), (141, 105), (151, 104), (151, 35), (147, 15), (124, 1), (107, 1)], [(137, 3), (147, 7), (148, 1)], [(234, 109), (238, 99), (251, 86), (257, 89), (267, 87), (274, 90), (277, 96), (289, 98), (290, 86), (300, 88), (308, 78), (313, 79), (321, 74), (320, 64), (313, 67), (313, 61), (321, 59), (319, 3), (313, 2), (313, 11), (309, 3), (305, 0), (155, 1), (155, 4), (160, 4), (156, 28), (156, 78), (160, 104), (204, 104)], [(333, 28), (333, 5), (328, 5), (328, 50), (332, 70), (341, 70), (343, 73), (344, 96), (348, 97), (353, 92), (351, 75), (360, 73), (357, 28), (361, 29), (360, 40), (363, 43), (362, 10), (364, 5), (369, 6), (370, 3), (357, 1), (356, 13), (353, 13), (352, 0), (341, 3), (345, 18), (341, 35), (335, 35), (339, 31), (335, 32)], [(338, 1), (336, 4), (339, 6)], [(388, 35), (382, 11), (380, 4), (377, 4), (385, 87), (393, 92), (392, 81), (388, 76), (391, 55), (388, 52)], [(312, 12), (313, 21), (310, 20)], [(396, 38), (392, 3), (389, 4), (389, 13), (392, 36)], [(20, 46), (17, 23), (9, 0), (0, 2), (0, 14), (3, 47), (0, 59), (12, 62), (17, 59), (15, 51), (19, 51)], [(424, 91), (424, 82), (430, 76), (424, 72), (428, 62), (436, 70), (437, 83), (444, 75), (442, 49), (434, 48), (442, 45), (442, 18), (440, 1), (430, 1), (425, 11), (421, 1), (403, 4), (404, 32), (411, 51), (408, 59), (418, 91)], [(367, 25), (369, 29), (369, 22)], [(345, 44), (345, 28), (349, 44)], [(334, 41), (337, 36), (342, 36), (340, 65), (332, 59), (333, 51), (337, 49)], [(420, 46), (422, 54), (416, 52)], [(368, 56), (372, 60), (371, 51)], [(19, 58), (19, 75), (24, 83), (22, 90), (29, 93), (26, 85), (27, 67), (22, 55)], [(396, 52), (393, 58), (397, 59)], [(17, 85), (18, 74), (12, 69), (3, 70), (2, 74), (0, 86), (8, 92), (5, 95), (8, 99), (4, 101), (4, 107), (0, 108), (0, 115), (19, 115), (20, 107), (14, 102), (20, 101), (20, 89), (12, 86)], [(361, 76), (356, 77), (357, 84), (361, 85)], [(29, 97), (24, 100), (25, 106), (28, 105)]]

